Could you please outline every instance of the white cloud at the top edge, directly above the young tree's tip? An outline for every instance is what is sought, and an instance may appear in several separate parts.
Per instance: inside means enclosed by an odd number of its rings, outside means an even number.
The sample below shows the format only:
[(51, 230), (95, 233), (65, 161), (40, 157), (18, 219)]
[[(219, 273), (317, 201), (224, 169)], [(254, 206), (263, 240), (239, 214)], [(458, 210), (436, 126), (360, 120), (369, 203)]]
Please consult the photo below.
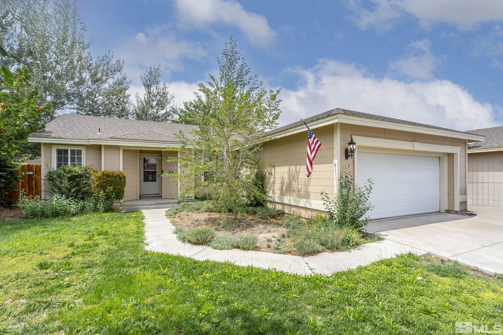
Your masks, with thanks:
[(264, 16), (245, 11), (234, 0), (175, 0), (175, 3), (183, 26), (205, 29), (223, 22), (237, 27), (250, 43), (261, 46), (270, 45), (276, 35)]

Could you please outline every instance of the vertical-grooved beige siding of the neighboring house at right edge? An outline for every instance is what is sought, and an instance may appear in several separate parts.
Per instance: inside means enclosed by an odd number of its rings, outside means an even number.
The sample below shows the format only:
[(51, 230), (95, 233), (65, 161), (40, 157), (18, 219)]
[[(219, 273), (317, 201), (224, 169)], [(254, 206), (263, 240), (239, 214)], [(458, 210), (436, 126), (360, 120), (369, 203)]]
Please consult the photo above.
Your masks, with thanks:
[(468, 154), (468, 204), (503, 206), (503, 151)]

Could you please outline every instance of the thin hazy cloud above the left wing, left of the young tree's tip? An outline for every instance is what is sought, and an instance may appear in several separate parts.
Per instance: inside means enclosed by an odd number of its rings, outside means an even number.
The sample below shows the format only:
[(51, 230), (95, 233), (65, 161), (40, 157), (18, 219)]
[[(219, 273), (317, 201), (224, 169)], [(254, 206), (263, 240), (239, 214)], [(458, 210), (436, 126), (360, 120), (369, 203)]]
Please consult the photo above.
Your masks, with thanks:
[(200, 60), (207, 51), (199, 42), (187, 41), (177, 36), (168, 26), (145, 29), (124, 41), (118, 48), (125, 60), (125, 71), (133, 82), (139, 82), (140, 73), (149, 66), (161, 65), (164, 75), (171, 71), (182, 71), (183, 60)]

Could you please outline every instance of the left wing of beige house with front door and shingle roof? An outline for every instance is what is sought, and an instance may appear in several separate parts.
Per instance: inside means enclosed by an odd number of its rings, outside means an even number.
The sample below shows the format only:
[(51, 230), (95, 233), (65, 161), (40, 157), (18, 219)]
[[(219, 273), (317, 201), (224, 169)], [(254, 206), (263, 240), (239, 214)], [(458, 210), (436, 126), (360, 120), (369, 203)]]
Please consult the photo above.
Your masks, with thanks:
[(30, 134), (28, 141), (41, 143), (42, 178), (47, 171), (62, 164), (120, 170), (126, 173), (123, 201), (151, 195), (174, 199), (178, 197), (180, 186), (161, 174), (177, 173), (178, 163), (166, 160), (179, 153), (163, 148), (181, 146), (173, 134), (187, 133), (194, 127), (62, 114), (49, 122), (45, 130)]

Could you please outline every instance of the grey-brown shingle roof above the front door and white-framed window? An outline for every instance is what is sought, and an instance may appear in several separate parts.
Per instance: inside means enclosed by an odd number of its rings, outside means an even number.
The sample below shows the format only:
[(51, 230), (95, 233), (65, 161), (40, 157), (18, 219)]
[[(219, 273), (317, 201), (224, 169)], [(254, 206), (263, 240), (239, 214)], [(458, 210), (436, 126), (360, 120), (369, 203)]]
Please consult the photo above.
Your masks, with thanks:
[[(188, 133), (196, 126), (167, 122), (113, 119), (87, 115), (62, 114), (45, 126), (45, 130), (31, 133), (31, 137), (58, 139), (104, 139), (141, 142), (180, 143), (173, 135)], [(98, 134), (101, 129), (101, 134)]]

